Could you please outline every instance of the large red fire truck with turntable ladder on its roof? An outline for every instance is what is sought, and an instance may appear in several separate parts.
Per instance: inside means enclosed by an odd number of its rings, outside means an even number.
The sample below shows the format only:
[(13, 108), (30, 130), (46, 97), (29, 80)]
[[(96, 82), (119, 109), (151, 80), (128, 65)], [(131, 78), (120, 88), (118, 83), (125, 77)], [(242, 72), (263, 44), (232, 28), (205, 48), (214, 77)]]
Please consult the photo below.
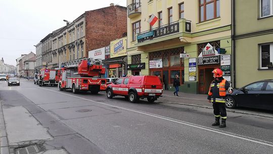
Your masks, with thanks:
[(97, 94), (105, 91), (106, 79), (100, 78), (105, 74), (101, 60), (83, 58), (62, 63), (59, 90), (71, 89), (73, 93), (78, 91), (90, 91)]

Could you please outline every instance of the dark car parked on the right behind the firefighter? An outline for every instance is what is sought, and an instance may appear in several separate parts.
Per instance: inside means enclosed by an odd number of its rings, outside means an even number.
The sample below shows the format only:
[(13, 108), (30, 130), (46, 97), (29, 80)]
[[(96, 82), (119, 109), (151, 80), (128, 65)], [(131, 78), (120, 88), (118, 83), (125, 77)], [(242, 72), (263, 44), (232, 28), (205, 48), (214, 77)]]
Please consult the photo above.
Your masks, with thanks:
[(227, 108), (244, 106), (273, 110), (273, 79), (251, 83), (239, 89), (234, 89), (232, 94), (225, 99)]

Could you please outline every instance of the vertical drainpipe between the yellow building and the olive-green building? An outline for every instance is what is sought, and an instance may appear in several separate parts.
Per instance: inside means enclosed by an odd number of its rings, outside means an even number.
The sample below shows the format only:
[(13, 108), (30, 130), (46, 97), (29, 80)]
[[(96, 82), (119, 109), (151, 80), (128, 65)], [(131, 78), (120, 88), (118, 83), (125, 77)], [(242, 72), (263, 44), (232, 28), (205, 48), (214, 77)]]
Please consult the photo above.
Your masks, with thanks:
[(235, 52), (235, 0), (232, 0), (232, 57), (233, 57), (233, 87), (236, 88), (236, 52)]

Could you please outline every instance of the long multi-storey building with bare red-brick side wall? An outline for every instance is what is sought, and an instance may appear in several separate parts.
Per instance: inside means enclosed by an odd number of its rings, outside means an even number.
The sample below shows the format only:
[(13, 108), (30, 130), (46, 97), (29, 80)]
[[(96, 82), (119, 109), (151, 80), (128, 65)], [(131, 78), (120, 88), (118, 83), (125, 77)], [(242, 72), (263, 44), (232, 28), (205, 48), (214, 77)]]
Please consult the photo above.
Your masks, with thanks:
[(109, 46), (126, 33), (126, 15), (125, 7), (111, 4), (67, 21), (66, 26), (42, 39), (42, 65), (60, 68), (62, 62), (86, 58), (88, 51)]

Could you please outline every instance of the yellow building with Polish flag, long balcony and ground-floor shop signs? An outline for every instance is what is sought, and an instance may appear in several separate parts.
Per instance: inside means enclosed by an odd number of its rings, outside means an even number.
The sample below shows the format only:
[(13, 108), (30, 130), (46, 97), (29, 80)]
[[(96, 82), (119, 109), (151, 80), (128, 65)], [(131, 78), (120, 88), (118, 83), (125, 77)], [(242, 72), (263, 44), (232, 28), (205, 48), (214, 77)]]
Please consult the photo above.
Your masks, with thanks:
[[(164, 89), (208, 91), (214, 68), (231, 81), (231, 1), (127, 0), (128, 74), (161, 75)], [(153, 26), (149, 19), (156, 16)], [(151, 19), (150, 19), (151, 21)]]

